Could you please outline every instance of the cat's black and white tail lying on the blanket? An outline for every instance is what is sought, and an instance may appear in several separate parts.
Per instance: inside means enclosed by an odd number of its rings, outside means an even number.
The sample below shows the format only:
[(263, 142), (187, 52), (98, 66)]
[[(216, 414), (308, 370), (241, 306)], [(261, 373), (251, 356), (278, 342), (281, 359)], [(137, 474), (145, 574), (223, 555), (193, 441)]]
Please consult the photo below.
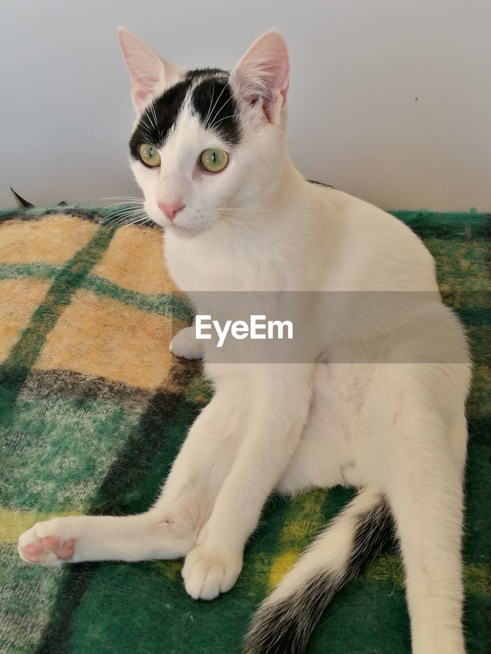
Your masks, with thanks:
[(392, 532), (384, 496), (361, 490), (263, 602), (245, 638), (245, 654), (301, 654), (323, 610)]

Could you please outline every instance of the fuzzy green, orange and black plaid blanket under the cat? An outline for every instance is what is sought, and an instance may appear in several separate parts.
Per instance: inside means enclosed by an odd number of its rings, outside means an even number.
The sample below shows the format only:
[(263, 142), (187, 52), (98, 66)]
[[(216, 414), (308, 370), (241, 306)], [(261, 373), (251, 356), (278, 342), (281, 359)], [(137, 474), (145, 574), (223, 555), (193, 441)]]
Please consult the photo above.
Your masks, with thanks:
[[(111, 210), (0, 213), (0, 651), (238, 653), (251, 613), (352, 491), (272, 498), (230, 593), (189, 598), (180, 561), (29, 566), (18, 535), (53, 515), (143, 511), (208, 401), (199, 365), (172, 359), (191, 318), (152, 226), (113, 229)], [(490, 651), (490, 222), (395, 212), (437, 260), (465, 322), (475, 372), (465, 529), (469, 654)], [(409, 654), (395, 549), (336, 597), (308, 652)]]

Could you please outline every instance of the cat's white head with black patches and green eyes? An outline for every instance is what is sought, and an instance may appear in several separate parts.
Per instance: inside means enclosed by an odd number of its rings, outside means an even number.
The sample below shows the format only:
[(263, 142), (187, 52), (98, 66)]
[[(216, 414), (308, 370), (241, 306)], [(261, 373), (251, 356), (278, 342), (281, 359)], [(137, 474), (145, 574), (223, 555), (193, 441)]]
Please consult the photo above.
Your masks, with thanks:
[(187, 71), (162, 60), (126, 29), (118, 41), (137, 117), (131, 165), (158, 224), (183, 236), (255, 207), (277, 186), (285, 161), (289, 61), (268, 31), (228, 73)]

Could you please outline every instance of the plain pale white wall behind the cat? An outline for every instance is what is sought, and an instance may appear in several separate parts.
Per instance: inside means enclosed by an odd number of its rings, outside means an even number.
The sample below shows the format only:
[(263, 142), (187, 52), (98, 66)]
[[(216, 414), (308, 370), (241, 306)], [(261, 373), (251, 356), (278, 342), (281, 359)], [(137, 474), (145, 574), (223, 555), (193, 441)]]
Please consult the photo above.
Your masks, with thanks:
[(3, 0), (0, 207), (9, 186), (34, 203), (137, 194), (118, 24), (192, 67), (231, 67), (277, 27), (306, 177), (386, 208), (491, 209), (490, 0)]

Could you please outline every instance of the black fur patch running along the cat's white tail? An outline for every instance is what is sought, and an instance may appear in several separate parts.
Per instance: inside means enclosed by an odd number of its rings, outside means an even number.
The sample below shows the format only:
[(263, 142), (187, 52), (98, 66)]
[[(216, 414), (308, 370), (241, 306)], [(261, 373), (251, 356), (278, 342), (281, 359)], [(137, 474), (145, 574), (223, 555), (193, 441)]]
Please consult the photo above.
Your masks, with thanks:
[(393, 521), (384, 498), (358, 517), (352, 552), (344, 570), (319, 570), (295, 594), (259, 609), (245, 639), (245, 654), (302, 654), (327, 605), (380, 554), (393, 536)]

